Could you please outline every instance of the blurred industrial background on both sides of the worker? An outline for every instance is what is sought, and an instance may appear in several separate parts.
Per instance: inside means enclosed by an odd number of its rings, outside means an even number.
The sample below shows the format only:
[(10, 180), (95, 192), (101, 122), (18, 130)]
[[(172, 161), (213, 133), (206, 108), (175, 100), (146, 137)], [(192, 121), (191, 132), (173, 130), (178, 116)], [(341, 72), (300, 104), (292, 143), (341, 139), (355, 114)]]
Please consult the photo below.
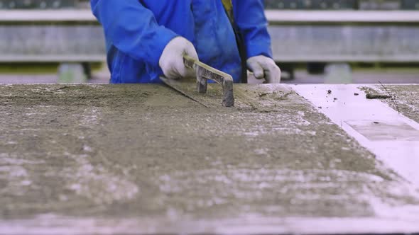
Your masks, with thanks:
[[(265, 6), (285, 83), (419, 82), (419, 0)], [(89, 1), (0, 0), (0, 84), (107, 84), (105, 61)]]

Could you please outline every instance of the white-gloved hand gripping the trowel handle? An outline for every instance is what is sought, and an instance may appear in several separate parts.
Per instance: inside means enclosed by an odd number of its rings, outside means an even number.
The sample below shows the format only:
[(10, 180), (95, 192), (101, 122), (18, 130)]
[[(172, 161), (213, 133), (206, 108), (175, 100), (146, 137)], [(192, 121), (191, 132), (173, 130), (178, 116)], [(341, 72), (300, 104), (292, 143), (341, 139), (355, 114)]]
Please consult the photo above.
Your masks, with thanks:
[(197, 51), (192, 42), (183, 37), (176, 37), (170, 40), (161, 53), (158, 65), (168, 79), (179, 79), (180, 77), (194, 76), (192, 69), (187, 69), (183, 64), (183, 55), (189, 55), (198, 59)]

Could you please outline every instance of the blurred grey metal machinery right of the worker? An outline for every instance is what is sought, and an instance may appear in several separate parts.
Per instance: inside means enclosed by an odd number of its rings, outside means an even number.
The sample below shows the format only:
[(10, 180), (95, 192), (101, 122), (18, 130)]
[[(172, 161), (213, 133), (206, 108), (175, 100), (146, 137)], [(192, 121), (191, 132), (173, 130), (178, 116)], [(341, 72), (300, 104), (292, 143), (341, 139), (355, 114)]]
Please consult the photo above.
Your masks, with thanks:
[(273, 57), (293, 78), (326, 64), (419, 62), (419, 0), (266, 0)]

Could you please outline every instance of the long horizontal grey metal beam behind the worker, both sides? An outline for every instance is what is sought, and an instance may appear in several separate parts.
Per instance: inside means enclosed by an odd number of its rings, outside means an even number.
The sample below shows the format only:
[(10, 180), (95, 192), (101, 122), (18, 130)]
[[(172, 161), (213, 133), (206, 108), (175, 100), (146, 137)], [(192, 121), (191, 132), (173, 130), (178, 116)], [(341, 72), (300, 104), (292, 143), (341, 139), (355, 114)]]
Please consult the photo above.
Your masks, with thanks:
[[(419, 62), (419, 11), (266, 10), (266, 17), (278, 62)], [(72, 32), (80, 36), (69, 39)], [(104, 59), (102, 29), (88, 9), (0, 11), (1, 40), (0, 62)]]

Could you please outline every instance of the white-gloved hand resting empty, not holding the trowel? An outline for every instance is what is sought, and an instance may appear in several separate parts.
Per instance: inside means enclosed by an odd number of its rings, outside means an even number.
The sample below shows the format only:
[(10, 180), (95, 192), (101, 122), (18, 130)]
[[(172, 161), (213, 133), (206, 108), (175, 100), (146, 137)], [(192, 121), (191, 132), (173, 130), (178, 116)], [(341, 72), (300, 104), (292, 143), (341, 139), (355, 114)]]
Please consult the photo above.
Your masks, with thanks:
[(247, 67), (253, 71), (256, 79), (265, 79), (268, 84), (279, 84), (281, 82), (281, 69), (269, 57), (264, 55), (250, 57), (247, 59)]

